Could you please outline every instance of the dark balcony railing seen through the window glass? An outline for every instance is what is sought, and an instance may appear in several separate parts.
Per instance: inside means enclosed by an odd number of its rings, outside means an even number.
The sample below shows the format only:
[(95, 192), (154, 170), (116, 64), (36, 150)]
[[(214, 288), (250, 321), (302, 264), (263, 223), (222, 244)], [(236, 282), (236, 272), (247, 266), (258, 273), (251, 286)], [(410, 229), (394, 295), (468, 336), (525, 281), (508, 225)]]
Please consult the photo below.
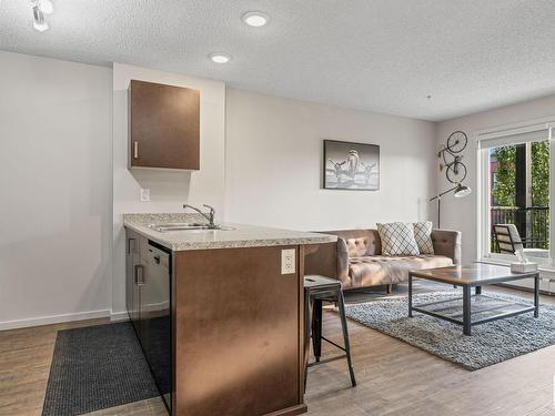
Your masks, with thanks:
[[(525, 248), (549, 248), (548, 206), (492, 206), (492, 225), (515, 224)], [(498, 253), (492, 232), (492, 252)]]

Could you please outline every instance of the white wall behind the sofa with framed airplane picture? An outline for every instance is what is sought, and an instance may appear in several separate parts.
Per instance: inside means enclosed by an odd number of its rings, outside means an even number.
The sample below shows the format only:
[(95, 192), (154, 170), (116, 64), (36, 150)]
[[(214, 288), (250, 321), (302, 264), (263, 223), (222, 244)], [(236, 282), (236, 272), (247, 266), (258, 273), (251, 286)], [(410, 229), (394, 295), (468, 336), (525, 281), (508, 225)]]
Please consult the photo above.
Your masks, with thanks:
[[(430, 217), (431, 122), (228, 89), (225, 130), (229, 221), (332, 230)], [(323, 139), (379, 144), (380, 191), (323, 190)]]

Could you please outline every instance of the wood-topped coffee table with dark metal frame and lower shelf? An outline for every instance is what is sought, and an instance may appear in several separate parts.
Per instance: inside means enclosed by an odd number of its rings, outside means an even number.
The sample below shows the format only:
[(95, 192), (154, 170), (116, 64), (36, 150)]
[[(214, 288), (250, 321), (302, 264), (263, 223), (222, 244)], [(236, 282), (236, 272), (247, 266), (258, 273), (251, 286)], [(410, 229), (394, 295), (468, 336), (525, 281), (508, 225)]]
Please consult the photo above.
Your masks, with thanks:
[[(413, 280), (423, 278), (445, 283), (463, 287), (463, 311), (462, 314), (441, 314), (438, 311), (442, 307), (448, 310), (448, 303), (461, 301), (453, 298), (447, 301), (430, 302), (420, 305), (413, 305)], [(482, 286), (519, 281), (523, 278), (534, 278), (534, 306), (524, 305), (516, 302), (498, 300), (492, 296), (482, 294)], [(471, 293), (472, 287), (475, 287), (475, 294)], [(472, 312), (472, 300), (475, 302), (484, 300), (494, 300), (495, 305), (476, 311), (477, 315), (486, 315), (485, 317), (474, 317)], [(486, 303), (486, 302), (484, 302)], [(539, 316), (539, 272), (529, 273), (513, 273), (508, 266), (498, 266), (484, 263), (475, 263), (467, 266), (451, 266), (427, 270), (413, 270), (408, 272), (408, 316), (413, 316), (413, 312), (420, 312), (430, 316), (445, 319), (463, 326), (464, 335), (472, 335), (472, 327), (496, 319), (502, 319), (527, 312), (534, 312), (534, 317)], [(498, 312), (498, 313), (497, 313)]]

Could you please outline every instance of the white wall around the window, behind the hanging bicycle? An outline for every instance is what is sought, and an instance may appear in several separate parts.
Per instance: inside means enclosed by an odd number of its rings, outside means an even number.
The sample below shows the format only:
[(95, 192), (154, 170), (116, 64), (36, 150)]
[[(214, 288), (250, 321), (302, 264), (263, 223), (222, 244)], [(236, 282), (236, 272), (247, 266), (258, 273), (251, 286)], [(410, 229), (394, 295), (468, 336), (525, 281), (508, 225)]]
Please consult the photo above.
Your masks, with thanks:
[[(464, 163), (468, 169), (467, 184), (476, 190), (477, 148), (475, 132), (519, 121), (555, 115), (555, 95), (526, 101), (519, 104), (484, 111), (458, 119), (447, 120), (437, 124), (437, 144), (445, 143), (447, 136), (462, 130), (468, 135), (468, 145), (464, 152)], [(450, 183), (443, 173), (438, 173), (438, 187), (447, 190)], [(442, 200), (442, 227), (461, 230), (463, 232), (463, 261), (477, 258), (477, 199), (476, 192), (470, 196), (455, 200), (453, 195)]]

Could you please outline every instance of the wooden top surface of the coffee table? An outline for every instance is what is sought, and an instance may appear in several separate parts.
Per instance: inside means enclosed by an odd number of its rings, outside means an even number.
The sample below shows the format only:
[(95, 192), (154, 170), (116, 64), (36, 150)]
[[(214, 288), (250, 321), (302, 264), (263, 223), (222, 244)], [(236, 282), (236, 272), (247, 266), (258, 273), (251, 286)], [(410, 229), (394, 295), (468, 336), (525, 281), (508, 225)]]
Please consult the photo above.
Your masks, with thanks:
[(508, 282), (513, 280), (516, 281), (526, 277), (534, 277), (537, 275), (537, 271), (529, 273), (513, 273), (511, 272), (509, 266), (497, 266), (484, 263), (411, 271), (411, 274), (414, 277), (471, 286), (480, 286)]

